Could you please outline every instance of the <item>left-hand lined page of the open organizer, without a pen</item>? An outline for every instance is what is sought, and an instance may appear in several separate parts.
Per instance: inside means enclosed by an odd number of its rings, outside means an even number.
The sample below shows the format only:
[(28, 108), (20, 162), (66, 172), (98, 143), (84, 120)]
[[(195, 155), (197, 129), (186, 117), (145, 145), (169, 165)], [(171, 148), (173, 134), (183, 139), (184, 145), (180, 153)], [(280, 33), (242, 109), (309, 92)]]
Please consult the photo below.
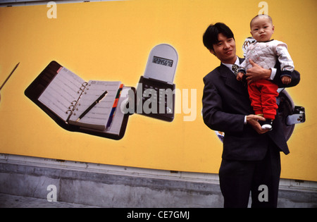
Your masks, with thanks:
[(66, 113), (73, 101), (80, 96), (80, 87), (85, 80), (67, 68), (61, 68), (55, 78), (39, 97), (39, 101), (57, 116), (66, 121), (70, 113)]

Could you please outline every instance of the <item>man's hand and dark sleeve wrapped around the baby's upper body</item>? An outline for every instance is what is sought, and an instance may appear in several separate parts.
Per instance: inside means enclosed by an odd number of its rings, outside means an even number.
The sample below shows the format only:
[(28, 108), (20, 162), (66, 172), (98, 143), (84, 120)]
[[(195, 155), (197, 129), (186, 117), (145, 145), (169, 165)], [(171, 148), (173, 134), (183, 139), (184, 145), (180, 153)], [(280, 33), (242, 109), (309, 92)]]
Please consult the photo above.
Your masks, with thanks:
[[(255, 82), (255, 81), (261, 80), (261, 79), (268, 80), (271, 77), (272, 70), (262, 68), (258, 64), (254, 63), (254, 61), (252, 61), (251, 59), (249, 60), (249, 62), (252, 65), (252, 67), (247, 70), (247, 74), (246, 74), (247, 80), (249, 81), (249, 83)], [(294, 87), (295, 85), (297, 85), (299, 83), (300, 74), (299, 74), (299, 72), (297, 72), (297, 70), (294, 70), (292, 72), (292, 81), (290, 82), (290, 84), (285, 85), (282, 83), (282, 80), (280, 78), (281, 71), (280, 71), (280, 62), (279, 61), (276, 62), (275, 68), (277, 68), (277, 71), (276, 71), (275, 77), (273, 79), (273, 82), (276, 85), (278, 85), (278, 87), (280, 87), (280, 88)]]

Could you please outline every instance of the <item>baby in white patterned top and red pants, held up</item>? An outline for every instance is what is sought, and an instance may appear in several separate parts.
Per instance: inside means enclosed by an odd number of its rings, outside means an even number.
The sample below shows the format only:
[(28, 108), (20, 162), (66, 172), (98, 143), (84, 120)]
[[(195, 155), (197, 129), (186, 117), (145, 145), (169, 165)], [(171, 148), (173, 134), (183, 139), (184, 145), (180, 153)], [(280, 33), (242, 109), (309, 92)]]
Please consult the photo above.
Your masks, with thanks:
[[(249, 59), (257, 63), (262, 68), (273, 68), (276, 60), (280, 61), (281, 80), (287, 85), (291, 82), (291, 73), (294, 70), (294, 63), (287, 51), (284, 42), (271, 39), (274, 32), (272, 18), (267, 15), (258, 15), (251, 20), (251, 35), (256, 39), (247, 49), (246, 57), (237, 73), (237, 80), (242, 80), (246, 70), (252, 67)], [(251, 106), (256, 115), (263, 116), (266, 121), (262, 123), (262, 128), (272, 130), (275, 119), (276, 97), (278, 97), (278, 85), (270, 80), (258, 80), (248, 85)]]

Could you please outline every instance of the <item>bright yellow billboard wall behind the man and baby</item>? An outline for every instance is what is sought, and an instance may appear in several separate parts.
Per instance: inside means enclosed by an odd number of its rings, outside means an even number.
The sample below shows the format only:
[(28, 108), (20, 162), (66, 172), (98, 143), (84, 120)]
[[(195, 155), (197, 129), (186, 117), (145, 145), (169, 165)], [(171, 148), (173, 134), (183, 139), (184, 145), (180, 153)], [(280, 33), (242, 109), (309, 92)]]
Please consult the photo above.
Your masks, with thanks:
[[(282, 178), (315, 180), (317, 109), (315, 0), (266, 1), (274, 38), (286, 42), (296, 69), (297, 87), (287, 90), (306, 108), (282, 154)], [(237, 54), (249, 36), (249, 20), (261, 8), (254, 0), (131, 0), (58, 4), (57, 18), (46, 5), (0, 8), (0, 82), (20, 66), (1, 90), (0, 153), (40, 156), (120, 166), (218, 173), (222, 144), (201, 118), (202, 78), (219, 65), (202, 44), (210, 23), (221, 21), (235, 33)], [(24, 90), (52, 60), (85, 80), (121, 80), (136, 86), (150, 50), (167, 43), (178, 51), (178, 89), (197, 89), (196, 118), (184, 110), (172, 123), (130, 116), (125, 137), (108, 140), (60, 128), (27, 99)], [(189, 94), (190, 95), (190, 94)], [(193, 95), (193, 94), (192, 94)], [(178, 97), (182, 101), (183, 94)], [(190, 97), (185, 97), (189, 101)], [(193, 112), (194, 112), (193, 111)]]

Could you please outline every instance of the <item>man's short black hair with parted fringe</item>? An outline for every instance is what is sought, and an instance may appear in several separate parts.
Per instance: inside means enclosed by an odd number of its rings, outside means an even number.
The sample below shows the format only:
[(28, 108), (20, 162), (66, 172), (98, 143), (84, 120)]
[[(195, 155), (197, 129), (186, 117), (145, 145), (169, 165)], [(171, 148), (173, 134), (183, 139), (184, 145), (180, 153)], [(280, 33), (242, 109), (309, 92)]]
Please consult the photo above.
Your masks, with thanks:
[(230, 28), (225, 25), (224, 23), (216, 23), (215, 25), (209, 25), (207, 27), (206, 32), (203, 36), (204, 46), (209, 49), (213, 50), (213, 44), (217, 44), (218, 41), (218, 34), (221, 33), (227, 38), (235, 39), (232, 31)]

